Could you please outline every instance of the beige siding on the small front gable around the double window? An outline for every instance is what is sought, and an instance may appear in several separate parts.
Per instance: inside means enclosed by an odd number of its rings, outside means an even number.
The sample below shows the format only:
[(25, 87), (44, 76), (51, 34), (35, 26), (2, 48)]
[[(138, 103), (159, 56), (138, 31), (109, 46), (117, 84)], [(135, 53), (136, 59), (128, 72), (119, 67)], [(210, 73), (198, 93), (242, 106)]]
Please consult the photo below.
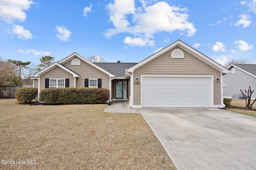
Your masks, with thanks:
[(73, 75), (58, 66), (40, 76), (40, 90), (45, 88), (46, 78), (69, 78), (69, 87), (74, 87)]

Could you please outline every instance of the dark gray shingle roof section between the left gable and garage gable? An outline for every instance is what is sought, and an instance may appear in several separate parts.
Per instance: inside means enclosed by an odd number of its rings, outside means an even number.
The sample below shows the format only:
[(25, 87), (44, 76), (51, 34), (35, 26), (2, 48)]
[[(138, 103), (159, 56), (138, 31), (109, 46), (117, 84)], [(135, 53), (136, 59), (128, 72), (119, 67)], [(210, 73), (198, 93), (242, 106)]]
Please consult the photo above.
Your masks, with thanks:
[(125, 77), (125, 69), (134, 66), (137, 63), (94, 63), (104, 70), (114, 74), (116, 77)]

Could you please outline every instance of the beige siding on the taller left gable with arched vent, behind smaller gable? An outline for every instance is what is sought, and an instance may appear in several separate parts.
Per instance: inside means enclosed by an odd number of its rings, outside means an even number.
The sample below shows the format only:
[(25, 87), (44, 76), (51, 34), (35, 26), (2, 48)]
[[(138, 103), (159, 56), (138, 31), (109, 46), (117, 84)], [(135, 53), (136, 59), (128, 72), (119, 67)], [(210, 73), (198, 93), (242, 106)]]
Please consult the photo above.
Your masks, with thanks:
[[(76, 57), (74, 57), (76, 58)], [(74, 59), (72, 58), (72, 59)], [(102, 79), (102, 88), (107, 88), (109, 89), (109, 76), (105, 74), (104, 72), (98, 70), (97, 68), (91, 66), (90, 64), (80, 60), (81, 65), (71, 65), (71, 61), (68, 61), (67, 63), (64, 63), (63, 65), (70, 70), (76, 72), (77, 74), (80, 75), (79, 78), (76, 78), (76, 87), (84, 87), (84, 79), (89, 78), (89, 79)], [(77, 58), (78, 59), (78, 58)]]

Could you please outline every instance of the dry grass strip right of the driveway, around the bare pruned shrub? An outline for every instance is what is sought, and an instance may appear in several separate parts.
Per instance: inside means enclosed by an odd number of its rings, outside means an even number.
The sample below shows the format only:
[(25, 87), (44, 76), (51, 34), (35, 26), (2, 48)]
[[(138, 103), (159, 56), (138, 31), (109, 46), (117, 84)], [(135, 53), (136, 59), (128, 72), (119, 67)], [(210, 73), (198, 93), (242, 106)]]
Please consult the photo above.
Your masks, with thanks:
[[(252, 100), (253, 102), (253, 100)], [(236, 113), (242, 113), (245, 115), (250, 115), (256, 117), (256, 102), (252, 106), (251, 110), (246, 109), (246, 104), (244, 99), (232, 99), (231, 107), (226, 107), (226, 110), (234, 111)]]

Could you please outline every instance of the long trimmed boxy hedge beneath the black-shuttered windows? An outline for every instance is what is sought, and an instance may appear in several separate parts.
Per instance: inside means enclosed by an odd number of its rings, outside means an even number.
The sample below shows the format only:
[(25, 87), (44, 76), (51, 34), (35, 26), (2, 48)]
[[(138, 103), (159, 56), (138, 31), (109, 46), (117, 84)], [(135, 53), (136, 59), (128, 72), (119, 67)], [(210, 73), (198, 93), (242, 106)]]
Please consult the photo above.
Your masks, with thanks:
[(102, 88), (45, 88), (40, 102), (46, 104), (102, 104), (109, 100), (109, 90)]

